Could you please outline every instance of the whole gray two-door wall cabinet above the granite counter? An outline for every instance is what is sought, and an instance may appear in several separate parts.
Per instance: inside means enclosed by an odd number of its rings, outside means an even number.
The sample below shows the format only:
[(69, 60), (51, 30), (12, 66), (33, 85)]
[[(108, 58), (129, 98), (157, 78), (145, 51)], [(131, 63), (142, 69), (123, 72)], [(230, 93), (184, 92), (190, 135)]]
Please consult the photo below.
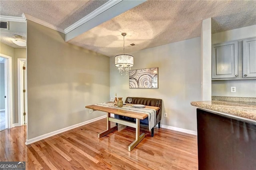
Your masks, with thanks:
[(256, 38), (212, 45), (212, 80), (256, 79)]

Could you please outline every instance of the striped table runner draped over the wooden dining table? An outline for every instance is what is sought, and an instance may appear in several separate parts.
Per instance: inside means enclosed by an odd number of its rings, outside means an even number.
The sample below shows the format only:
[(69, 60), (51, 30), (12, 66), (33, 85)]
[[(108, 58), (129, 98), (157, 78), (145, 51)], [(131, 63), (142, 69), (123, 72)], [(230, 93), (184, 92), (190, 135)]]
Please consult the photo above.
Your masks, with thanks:
[(135, 107), (126, 106), (126, 105), (124, 105), (123, 107), (117, 107), (117, 106), (114, 106), (113, 103), (98, 103), (98, 104), (95, 104), (95, 105), (147, 114), (148, 115), (148, 129), (149, 129), (149, 131), (151, 131), (151, 129), (154, 127), (154, 125), (156, 123), (156, 110), (155, 109), (135, 108)]

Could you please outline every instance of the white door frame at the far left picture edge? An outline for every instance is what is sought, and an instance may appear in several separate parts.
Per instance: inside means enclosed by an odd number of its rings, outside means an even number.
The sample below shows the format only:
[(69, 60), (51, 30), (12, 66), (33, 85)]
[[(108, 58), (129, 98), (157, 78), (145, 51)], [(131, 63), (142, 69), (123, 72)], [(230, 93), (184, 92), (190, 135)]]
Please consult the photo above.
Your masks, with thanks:
[(6, 95), (6, 103), (5, 103), (5, 111), (8, 119), (7, 128), (13, 127), (13, 119), (12, 119), (12, 57), (9, 55), (5, 55), (0, 53), (0, 56), (5, 59), (4, 61), (4, 79), (5, 81), (5, 95)]

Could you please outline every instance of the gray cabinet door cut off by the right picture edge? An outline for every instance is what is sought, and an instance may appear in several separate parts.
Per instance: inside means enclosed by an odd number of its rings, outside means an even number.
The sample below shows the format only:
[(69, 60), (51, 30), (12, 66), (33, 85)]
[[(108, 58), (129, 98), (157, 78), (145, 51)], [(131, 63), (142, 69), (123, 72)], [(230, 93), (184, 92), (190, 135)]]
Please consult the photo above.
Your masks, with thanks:
[(256, 77), (256, 38), (243, 40), (243, 77)]

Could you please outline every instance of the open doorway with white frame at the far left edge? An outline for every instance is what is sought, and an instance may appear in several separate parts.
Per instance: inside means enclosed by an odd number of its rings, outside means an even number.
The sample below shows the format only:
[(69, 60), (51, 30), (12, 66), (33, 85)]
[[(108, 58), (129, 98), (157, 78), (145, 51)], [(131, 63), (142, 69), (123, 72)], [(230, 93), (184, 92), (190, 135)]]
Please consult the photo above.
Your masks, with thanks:
[(0, 53), (0, 131), (12, 127), (12, 57)]

